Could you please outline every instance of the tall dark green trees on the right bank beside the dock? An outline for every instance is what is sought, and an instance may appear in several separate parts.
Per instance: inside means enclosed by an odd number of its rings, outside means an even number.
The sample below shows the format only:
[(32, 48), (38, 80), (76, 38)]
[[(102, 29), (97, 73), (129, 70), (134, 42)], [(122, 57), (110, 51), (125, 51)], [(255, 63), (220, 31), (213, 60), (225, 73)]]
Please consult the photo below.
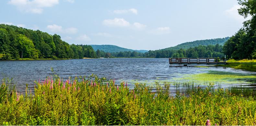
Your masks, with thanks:
[(256, 0), (239, 0), (238, 13), (244, 18), (243, 27), (223, 46), (223, 52), (228, 58), (256, 59)]

